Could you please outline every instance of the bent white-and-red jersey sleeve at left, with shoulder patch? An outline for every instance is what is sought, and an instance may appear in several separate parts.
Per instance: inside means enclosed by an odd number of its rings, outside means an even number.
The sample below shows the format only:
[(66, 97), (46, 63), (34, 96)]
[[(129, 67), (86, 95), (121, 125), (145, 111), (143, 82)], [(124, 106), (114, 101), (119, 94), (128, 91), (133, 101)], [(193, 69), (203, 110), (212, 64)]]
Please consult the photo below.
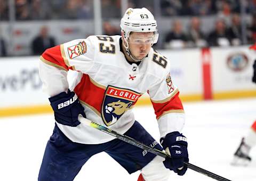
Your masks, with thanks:
[(93, 66), (94, 46), (92, 40), (77, 39), (47, 49), (40, 57), (39, 76), (43, 91), (49, 96), (68, 90), (67, 72), (88, 72)]

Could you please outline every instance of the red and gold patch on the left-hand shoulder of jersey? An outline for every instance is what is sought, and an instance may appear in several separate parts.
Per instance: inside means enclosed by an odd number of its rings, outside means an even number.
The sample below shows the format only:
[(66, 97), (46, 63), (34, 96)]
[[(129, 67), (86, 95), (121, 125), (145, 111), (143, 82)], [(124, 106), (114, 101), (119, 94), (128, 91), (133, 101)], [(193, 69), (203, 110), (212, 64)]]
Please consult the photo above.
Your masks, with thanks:
[(87, 46), (86, 46), (86, 43), (83, 41), (83, 42), (79, 42), (76, 45), (69, 46), (67, 47), (67, 49), (68, 49), (69, 59), (74, 59), (79, 55), (85, 54), (87, 51)]

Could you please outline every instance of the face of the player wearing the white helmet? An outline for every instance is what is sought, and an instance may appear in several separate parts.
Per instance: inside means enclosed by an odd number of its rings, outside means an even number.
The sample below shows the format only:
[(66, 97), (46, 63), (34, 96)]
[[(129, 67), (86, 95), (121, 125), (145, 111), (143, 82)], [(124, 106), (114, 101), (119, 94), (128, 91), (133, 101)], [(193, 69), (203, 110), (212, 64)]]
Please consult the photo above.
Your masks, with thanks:
[(131, 32), (129, 36), (129, 49), (135, 59), (143, 59), (150, 51), (154, 42), (153, 32)]

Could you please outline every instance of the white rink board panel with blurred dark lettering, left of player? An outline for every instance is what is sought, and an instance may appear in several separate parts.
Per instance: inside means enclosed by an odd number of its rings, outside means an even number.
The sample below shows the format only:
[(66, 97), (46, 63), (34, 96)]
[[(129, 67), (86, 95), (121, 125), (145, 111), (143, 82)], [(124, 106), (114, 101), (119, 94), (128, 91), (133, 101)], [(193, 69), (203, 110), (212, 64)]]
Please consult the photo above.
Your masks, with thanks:
[(38, 60), (38, 57), (1, 58), (0, 108), (47, 103), (39, 79)]

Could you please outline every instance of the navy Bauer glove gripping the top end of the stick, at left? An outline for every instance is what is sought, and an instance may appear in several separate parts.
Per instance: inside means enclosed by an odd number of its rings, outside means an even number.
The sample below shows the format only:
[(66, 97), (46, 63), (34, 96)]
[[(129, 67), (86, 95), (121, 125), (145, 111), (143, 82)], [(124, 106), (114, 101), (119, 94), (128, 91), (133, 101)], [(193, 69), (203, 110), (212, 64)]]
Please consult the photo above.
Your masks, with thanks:
[(57, 122), (62, 125), (76, 127), (81, 122), (78, 121), (78, 115), (82, 114), (86, 118), (84, 108), (78, 101), (78, 97), (74, 92), (62, 92), (49, 98), (54, 117)]

